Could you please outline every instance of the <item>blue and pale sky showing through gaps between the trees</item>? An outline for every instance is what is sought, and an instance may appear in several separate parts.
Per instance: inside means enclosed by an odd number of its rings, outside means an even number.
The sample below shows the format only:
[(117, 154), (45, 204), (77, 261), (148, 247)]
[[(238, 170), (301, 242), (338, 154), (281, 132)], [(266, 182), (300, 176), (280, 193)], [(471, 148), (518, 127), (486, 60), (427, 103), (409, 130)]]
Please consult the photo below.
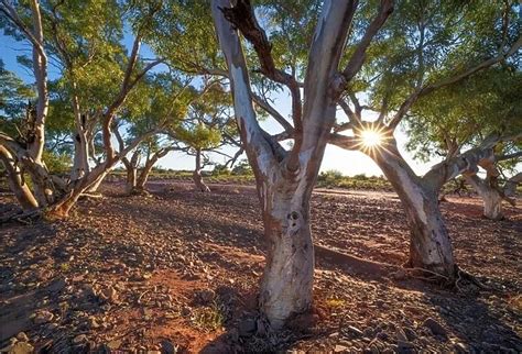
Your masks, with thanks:
[[(132, 44), (132, 37), (126, 36), (124, 42), (128, 46)], [(31, 70), (20, 66), (17, 63), (17, 56), (30, 53), (30, 45), (26, 42), (17, 42), (10, 36), (0, 33), (0, 58), (4, 62), (8, 70), (14, 71), (26, 82), (33, 82), (34, 77)], [(151, 57), (153, 54), (150, 48), (142, 46), (141, 55), (143, 57)], [(50, 78), (55, 78), (59, 75), (57, 68), (50, 66)], [(283, 92), (275, 97), (275, 107), (283, 114), (283, 117), (290, 117), (290, 98)], [(275, 133), (281, 131), (278, 123), (272, 120), (262, 122), (261, 125), (269, 132)], [(417, 174), (424, 174), (429, 169), (433, 163), (423, 164), (415, 162), (411, 155), (403, 148), (406, 141), (406, 136), (403, 132), (399, 131), (395, 133), (398, 142), (401, 146), (401, 151), (406, 157), (406, 161), (413, 167)], [(226, 148), (224, 152), (233, 155), (232, 148)], [(211, 159), (216, 163), (224, 163), (226, 158), (218, 154), (213, 154)], [(194, 157), (186, 156), (181, 153), (171, 153), (159, 162), (159, 165), (165, 168), (173, 169), (192, 169), (194, 167)], [(211, 168), (211, 167), (210, 167)], [(323, 159), (322, 170), (336, 169), (341, 172), (344, 175), (354, 176), (358, 174), (382, 175), (379, 167), (373, 163), (371, 158), (360, 152), (348, 152), (336, 146), (328, 146), (326, 148), (325, 157)]]

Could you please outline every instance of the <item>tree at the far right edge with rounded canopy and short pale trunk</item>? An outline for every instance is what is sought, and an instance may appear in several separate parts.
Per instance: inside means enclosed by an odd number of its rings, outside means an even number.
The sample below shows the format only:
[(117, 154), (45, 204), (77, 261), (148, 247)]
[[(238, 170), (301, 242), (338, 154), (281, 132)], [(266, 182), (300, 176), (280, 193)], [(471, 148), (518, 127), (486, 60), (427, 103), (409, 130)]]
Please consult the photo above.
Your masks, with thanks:
[[(515, 202), (504, 187), (516, 185), (520, 178), (514, 167), (522, 161), (521, 82), (518, 63), (510, 58), (502, 67), (475, 75), (421, 100), (406, 121), (411, 136), (407, 147), (423, 159), (434, 152), (448, 159), (463, 148), (477, 147), (485, 136), (494, 133), (503, 136), (478, 166), (464, 173), (483, 200), (483, 215), (492, 220), (503, 218), (502, 201)], [(477, 175), (477, 167), (486, 170), (485, 179)], [(504, 172), (511, 172), (513, 178), (505, 178)]]

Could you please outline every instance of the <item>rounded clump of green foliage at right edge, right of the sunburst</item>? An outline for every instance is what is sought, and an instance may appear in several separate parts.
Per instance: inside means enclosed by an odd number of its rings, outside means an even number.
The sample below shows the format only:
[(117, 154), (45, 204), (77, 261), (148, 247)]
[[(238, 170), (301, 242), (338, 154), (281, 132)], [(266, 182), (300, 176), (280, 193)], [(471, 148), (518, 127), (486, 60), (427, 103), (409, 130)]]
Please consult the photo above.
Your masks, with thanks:
[[(522, 133), (522, 73), (512, 66), (479, 73), (421, 99), (406, 120), (406, 147), (427, 161), (452, 145), (471, 147), (491, 133)], [(515, 148), (499, 145), (499, 153)]]

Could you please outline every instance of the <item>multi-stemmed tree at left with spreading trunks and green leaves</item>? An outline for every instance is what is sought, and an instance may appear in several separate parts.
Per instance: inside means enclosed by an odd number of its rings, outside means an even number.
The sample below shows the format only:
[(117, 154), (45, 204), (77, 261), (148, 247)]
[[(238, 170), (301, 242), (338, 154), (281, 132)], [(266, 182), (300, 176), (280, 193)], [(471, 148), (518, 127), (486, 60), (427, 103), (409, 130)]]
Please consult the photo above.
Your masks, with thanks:
[[(107, 7), (106, 7), (107, 5)], [(131, 142), (124, 151), (118, 155), (112, 146), (112, 126), (117, 113), (123, 108), (128, 108), (132, 101), (134, 91), (141, 79), (153, 67), (162, 63), (161, 58), (152, 62), (142, 60), (139, 57), (140, 46), (143, 37), (150, 31), (150, 23), (154, 14), (159, 11), (161, 3), (150, 1), (146, 3), (135, 3), (130, 5), (116, 2), (105, 3), (105, 1), (94, 1), (85, 7), (80, 2), (62, 2), (53, 4), (50, 2), (32, 2), (31, 12), (24, 7), (17, 10), (7, 0), (0, 3), (0, 10), (9, 20), (2, 24), (15, 37), (26, 37), (33, 44), (33, 66), (37, 87), (37, 107), (34, 115), (28, 115), (32, 135), (31, 144), (28, 148), (22, 146), (8, 134), (0, 135), (2, 145), (23, 162), (29, 170), (33, 185), (35, 186), (35, 197), (40, 208), (47, 209), (50, 214), (56, 217), (67, 215), (79, 196), (86, 190), (94, 189), (99, 185), (107, 173), (112, 168), (121, 156), (132, 151), (141, 140), (146, 139), (155, 131), (146, 132), (135, 141)], [(43, 14), (41, 14), (43, 10)], [(134, 42), (130, 54), (124, 54), (120, 44), (123, 33), (123, 22), (119, 20), (96, 22), (96, 16), (81, 16), (90, 12), (104, 10), (107, 16), (118, 19), (115, 13), (124, 14), (126, 23), (135, 33)], [(26, 19), (32, 14), (33, 30), (26, 25)], [(81, 21), (75, 19), (80, 18)], [(85, 21), (89, 19), (89, 21)], [(64, 27), (61, 27), (61, 26)], [(108, 31), (106, 27), (110, 27)], [(48, 29), (51, 40), (45, 40), (43, 29)], [(99, 35), (108, 34), (107, 36)], [(21, 34), (23, 36), (21, 36)], [(62, 79), (63, 92), (72, 102), (73, 115), (75, 119), (76, 132), (74, 133), (75, 158), (70, 180), (66, 181), (48, 173), (42, 161), (45, 145), (45, 119), (48, 108), (48, 82), (46, 77), (48, 48), (63, 65), (64, 76)], [(100, 70), (101, 69), (101, 70)], [(105, 86), (99, 80), (99, 73), (106, 73)], [(115, 80), (119, 78), (119, 80)], [(106, 95), (89, 95), (94, 88), (109, 89)], [(85, 91), (83, 91), (85, 89)], [(100, 90), (102, 91), (102, 90)], [(85, 97), (80, 92), (86, 92)], [(115, 95), (116, 93), (116, 95)], [(93, 103), (93, 106), (88, 103)], [(85, 108), (81, 108), (85, 104)], [(88, 157), (94, 157), (94, 141), (96, 139), (95, 129), (101, 130), (101, 142), (104, 147), (104, 158), (98, 159), (98, 164), (90, 168)], [(32, 139), (34, 136), (34, 139)], [(90, 145), (90, 146), (89, 146)]]

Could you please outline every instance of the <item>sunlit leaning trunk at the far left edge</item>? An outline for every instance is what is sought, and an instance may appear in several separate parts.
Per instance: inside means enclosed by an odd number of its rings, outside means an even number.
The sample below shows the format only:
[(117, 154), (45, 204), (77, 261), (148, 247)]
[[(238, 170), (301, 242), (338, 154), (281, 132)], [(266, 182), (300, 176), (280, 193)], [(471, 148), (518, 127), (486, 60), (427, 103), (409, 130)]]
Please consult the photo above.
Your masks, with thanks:
[(3, 146), (0, 145), (0, 162), (2, 162), (8, 173), (8, 184), (11, 191), (17, 197), (23, 210), (33, 210), (39, 207), (31, 189), (22, 177), (22, 172), (17, 165), (14, 157)]

